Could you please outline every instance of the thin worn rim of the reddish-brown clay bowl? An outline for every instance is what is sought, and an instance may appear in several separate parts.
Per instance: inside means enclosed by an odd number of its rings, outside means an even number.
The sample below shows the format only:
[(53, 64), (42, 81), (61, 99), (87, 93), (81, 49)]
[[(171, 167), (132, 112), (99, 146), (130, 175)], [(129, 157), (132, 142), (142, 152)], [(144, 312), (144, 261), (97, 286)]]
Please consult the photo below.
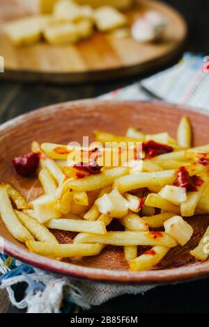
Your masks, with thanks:
[[(47, 115), (52, 111), (56, 112), (59, 110), (70, 110), (70, 107), (84, 104), (125, 104), (125, 103), (147, 103), (147, 101), (117, 101), (117, 100), (100, 100), (100, 99), (85, 99), (73, 102), (63, 102), (60, 104), (54, 104), (50, 106), (42, 107), (41, 109), (36, 109), (29, 113), (24, 113), (19, 115), (12, 120), (0, 125), (0, 132), (9, 131), (13, 126), (21, 125), (26, 120), (31, 118), (36, 119), (36, 115)], [(176, 104), (167, 104), (165, 102), (151, 102), (152, 106), (167, 106), (167, 108), (175, 109), (178, 111), (194, 112), (196, 109), (187, 106), (178, 106)], [(198, 112), (199, 115), (208, 116), (206, 111)], [(38, 115), (40, 117), (40, 115)], [(0, 136), (1, 141), (2, 136)], [(1, 243), (3, 242), (3, 243)], [(35, 266), (39, 269), (56, 273), (62, 276), (70, 276), (75, 278), (82, 278), (100, 282), (118, 282), (118, 283), (137, 283), (138, 285), (155, 285), (164, 284), (167, 282), (182, 282), (188, 280), (196, 280), (199, 278), (207, 277), (209, 275), (209, 262), (196, 262), (189, 266), (180, 266), (178, 268), (172, 269), (162, 269), (162, 270), (151, 270), (151, 271), (121, 271), (121, 270), (108, 270), (108, 269), (98, 269), (86, 266), (77, 266), (75, 264), (59, 262), (54, 259), (47, 257), (42, 257), (34, 253), (29, 252), (29, 250), (23, 249), (20, 246), (13, 244), (13, 242), (8, 241), (1, 237), (0, 243), (3, 244), (3, 252), (15, 257), (17, 260), (26, 262), (31, 266)]]

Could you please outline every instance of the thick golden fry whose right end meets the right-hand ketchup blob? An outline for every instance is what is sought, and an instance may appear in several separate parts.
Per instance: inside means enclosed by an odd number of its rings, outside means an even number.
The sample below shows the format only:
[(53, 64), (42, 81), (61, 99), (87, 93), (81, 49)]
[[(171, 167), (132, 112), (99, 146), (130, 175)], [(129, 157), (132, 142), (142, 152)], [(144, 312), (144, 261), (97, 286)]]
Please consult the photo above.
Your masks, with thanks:
[(176, 170), (164, 170), (155, 173), (140, 173), (118, 177), (114, 183), (119, 192), (125, 193), (143, 187), (172, 184), (175, 180)]

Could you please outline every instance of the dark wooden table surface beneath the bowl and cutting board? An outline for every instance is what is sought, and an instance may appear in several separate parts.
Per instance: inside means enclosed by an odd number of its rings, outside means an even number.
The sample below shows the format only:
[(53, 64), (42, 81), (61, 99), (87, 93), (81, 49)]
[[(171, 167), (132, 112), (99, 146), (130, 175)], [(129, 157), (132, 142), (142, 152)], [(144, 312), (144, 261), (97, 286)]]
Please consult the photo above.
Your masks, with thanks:
[[(166, 0), (164, 2), (177, 8), (187, 19), (189, 38), (185, 49), (208, 55), (209, 1), (203, 3), (203, 1), (196, 0)], [(137, 81), (137, 79), (97, 83), (96, 85), (88, 83), (83, 86), (26, 85), (0, 82), (0, 123), (47, 104), (97, 97), (133, 81)], [(209, 279), (180, 285), (167, 285), (156, 287), (144, 296), (121, 296), (92, 308), (90, 312), (209, 312), (208, 292)], [(17, 287), (16, 294), (17, 298), (21, 298), (20, 287)], [(10, 305), (6, 292), (0, 290), (0, 313), (3, 312), (22, 311)]]

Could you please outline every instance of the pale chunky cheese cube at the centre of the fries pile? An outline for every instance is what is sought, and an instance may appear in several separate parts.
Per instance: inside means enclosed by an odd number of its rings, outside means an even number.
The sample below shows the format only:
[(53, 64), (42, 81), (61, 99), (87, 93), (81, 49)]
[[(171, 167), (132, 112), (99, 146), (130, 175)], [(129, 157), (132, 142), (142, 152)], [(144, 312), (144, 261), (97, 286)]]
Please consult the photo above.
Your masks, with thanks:
[(95, 201), (101, 214), (106, 214), (112, 218), (122, 218), (128, 212), (129, 202), (121, 196), (117, 189), (111, 193), (104, 194), (102, 198)]

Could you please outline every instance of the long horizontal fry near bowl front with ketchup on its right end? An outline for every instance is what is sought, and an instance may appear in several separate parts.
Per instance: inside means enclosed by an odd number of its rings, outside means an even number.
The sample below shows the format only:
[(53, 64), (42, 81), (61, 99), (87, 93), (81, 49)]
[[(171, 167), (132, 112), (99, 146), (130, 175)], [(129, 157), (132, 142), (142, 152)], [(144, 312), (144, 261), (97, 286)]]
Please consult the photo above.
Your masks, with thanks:
[(175, 239), (164, 232), (107, 232), (107, 234), (80, 233), (74, 239), (77, 243), (99, 243), (114, 246), (167, 246), (178, 245)]

